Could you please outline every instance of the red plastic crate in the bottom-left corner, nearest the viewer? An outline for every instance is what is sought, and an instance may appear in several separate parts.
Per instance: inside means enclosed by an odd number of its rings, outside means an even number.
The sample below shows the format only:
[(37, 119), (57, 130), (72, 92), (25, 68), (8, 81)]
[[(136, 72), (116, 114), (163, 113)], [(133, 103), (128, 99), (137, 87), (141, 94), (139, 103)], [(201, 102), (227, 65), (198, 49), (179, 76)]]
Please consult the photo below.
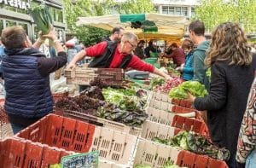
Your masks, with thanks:
[(0, 168), (49, 167), (61, 162), (61, 157), (73, 154), (46, 145), (9, 138), (0, 142)]

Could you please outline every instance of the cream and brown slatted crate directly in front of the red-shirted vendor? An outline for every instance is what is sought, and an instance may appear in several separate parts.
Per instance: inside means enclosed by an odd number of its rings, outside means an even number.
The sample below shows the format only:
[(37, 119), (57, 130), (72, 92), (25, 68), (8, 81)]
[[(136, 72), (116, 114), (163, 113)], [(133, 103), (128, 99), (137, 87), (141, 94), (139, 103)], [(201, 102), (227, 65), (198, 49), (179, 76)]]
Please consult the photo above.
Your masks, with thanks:
[(94, 79), (101, 78), (108, 85), (119, 86), (125, 78), (125, 73), (119, 68), (75, 67), (65, 70), (64, 76), (67, 78), (67, 84), (88, 85)]

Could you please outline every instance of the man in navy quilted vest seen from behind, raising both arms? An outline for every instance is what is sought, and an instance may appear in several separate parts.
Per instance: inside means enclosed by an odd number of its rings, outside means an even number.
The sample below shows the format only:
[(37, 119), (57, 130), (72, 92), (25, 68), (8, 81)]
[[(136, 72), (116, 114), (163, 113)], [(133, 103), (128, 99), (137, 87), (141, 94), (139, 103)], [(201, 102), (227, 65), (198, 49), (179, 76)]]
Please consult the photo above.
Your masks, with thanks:
[[(54, 41), (58, 56), (46, 58), (38, 50), (45, 38)], [(49, 73), (66, 64), (67, 54), (54, 29), (34, 44), (20, 26), (3, 29), (1, 39), (6, 54), (3, 57), (4, 108), (14, 133), (17, 133), (53, 111)]]

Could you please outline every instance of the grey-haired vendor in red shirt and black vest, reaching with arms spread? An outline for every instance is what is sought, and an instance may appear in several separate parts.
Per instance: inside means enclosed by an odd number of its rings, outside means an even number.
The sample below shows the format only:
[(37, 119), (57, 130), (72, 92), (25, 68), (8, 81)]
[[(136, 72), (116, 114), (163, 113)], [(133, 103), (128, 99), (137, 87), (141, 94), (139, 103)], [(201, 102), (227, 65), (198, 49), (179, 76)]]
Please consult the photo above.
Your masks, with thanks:
[(160, 72), (154, 66), (142, 61), (137, 55), (131, 52), (137, 47), (138, 38), (131, 32), (126, 32), (121, 38), (120, 43), (102, 42), (80, 51), (74, 56), (73, 61), (67, 68), (76, 67), (76, 63), (84, 58), (85, 55), (95, 57), (90, 62), (89, 67), (99, 68), (126, 68), (131, 67), (139, 71), (154, 72), (164, 78), (171, 78), (165, 72)]

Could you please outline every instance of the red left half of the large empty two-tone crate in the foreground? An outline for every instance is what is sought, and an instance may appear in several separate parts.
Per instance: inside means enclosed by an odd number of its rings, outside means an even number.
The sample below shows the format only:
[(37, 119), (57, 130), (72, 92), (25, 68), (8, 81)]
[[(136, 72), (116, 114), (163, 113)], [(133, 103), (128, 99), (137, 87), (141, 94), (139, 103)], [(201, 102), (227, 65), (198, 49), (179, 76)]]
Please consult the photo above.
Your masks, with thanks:
[(94, 131), (95, 125), (49, 114), (21, 130), (16, 136), (51, 147), (84, 153), (90, 149)]

